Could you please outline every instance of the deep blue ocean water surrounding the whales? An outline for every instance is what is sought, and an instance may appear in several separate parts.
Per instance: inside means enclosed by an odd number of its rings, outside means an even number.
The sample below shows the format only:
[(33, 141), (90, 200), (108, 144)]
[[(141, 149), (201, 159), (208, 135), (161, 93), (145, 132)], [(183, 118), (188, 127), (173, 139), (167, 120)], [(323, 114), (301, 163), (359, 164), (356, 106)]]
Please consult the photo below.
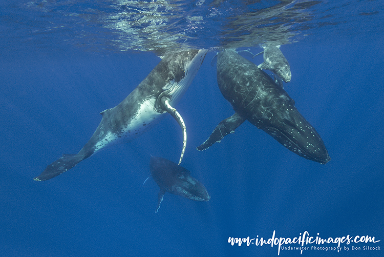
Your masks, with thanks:
[[(0, 255), (382, 256), (383, 4), (288, 2), (287, 9), (279, 1), (2, 3)], [(321, 135), (331, 157), (326, 165), (248, 122), (220, 144), (195, 149), (233, 114), (217, 86), (216, 52), (258, 53), (266, 42), (282, 44), (292, 71), (284, 89)], [(177, 106), (188, 132), (182, 166), (204, 184), (209, 202), (167, 193), (154, 212), (159, 187), (152, 179), (143, 185), (150, 156), (177, 162), (181, 150), (170, 115), (129, 144), (52, 180), (33, 180), (62, 153), (79, 151), (98, 113), (120, 103), (158, 55), (187, 46), (210, 49)], [(263, 62), (262, 55), (247, 58)], [(302, 252), (228, 243), (308, 233), (353, 242), (340, 249), (306, 242)], [(362, 236), (374, 242), (355, 242)]]

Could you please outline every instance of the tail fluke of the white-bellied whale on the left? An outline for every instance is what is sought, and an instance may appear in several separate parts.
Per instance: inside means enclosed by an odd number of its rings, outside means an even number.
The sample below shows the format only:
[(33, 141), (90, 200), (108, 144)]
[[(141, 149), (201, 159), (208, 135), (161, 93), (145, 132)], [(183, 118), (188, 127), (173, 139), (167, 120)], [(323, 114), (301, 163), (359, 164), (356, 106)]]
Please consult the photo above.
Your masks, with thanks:
[(34, 177), (35, 181), (50, 180), (55, 176), (66, 172), (69, 169), (75, 167), (76, 164), (84, 160), (82, 154), (63, 154), (60, 159), (54, 161), (47, 168), (41, 172), (40, 175)]

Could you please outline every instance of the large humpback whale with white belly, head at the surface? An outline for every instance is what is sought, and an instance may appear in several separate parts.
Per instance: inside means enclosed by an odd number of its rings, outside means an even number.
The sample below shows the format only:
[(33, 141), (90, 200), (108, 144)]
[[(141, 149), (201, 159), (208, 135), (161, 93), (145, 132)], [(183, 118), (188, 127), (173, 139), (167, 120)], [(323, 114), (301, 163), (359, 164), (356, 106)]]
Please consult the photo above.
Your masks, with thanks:
[(180, 164), (186, 145), (186, 130), (182, 117), (172, 106), (188, 89), (206, 53), (207, 50), (184, 50), (167, 54), (120, 104), (100, 113), (99, 126), (77, 154), (63, 154), (34, 180), (52, 179), (106, 146), (132, 141), (165, 112), (169, 112), (183, 128)]

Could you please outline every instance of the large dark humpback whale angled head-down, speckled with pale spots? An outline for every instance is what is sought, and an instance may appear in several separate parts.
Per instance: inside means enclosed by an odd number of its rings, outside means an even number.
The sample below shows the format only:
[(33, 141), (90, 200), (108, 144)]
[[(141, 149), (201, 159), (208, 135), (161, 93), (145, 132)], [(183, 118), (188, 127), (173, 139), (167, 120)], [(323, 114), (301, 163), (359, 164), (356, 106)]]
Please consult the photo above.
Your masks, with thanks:
[(217, 80), (235, 113), (220, 122), (198, 150), (220, 142), (248, 120), (297, 155), (321, 164), (330, 160), (323, 140), (294, 107), (293, 99), (252, 62), (234, 50), (224, 50), (217, 59)]

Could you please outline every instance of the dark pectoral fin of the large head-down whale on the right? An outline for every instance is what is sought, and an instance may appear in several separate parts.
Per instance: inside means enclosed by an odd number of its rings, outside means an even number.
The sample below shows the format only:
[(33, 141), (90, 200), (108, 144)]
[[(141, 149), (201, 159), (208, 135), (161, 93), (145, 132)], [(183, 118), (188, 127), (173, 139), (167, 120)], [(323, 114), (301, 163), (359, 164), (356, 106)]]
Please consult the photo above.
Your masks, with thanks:
[(239, 127), (246, 118), (240, 116), (237, 112), (234, 113), (229, 118), (226, 118), (217, 125), (215, 130), (210, 134), (209, 138), (200, 146), (196, 147), (197, 150), (202, 151), (215, 144), (220, 142), (224, 136), (229, 133), (233, 133), (234, 130)]

